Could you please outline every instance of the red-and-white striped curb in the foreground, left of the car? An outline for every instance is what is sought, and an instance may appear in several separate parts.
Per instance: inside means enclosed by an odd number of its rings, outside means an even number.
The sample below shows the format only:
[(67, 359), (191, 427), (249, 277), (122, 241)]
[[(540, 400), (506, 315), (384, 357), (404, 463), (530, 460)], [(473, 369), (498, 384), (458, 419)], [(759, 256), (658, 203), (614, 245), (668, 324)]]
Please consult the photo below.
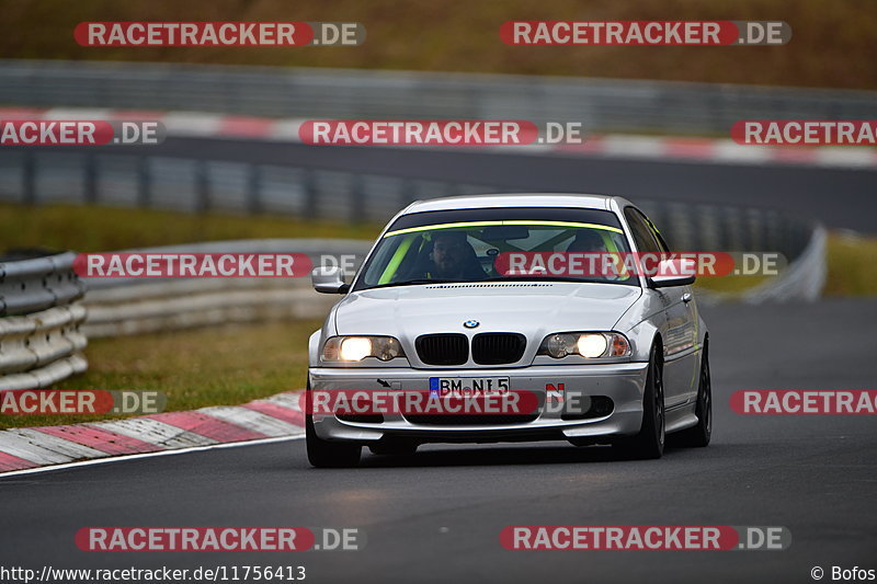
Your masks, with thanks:
[(83, 461), (274, 442), (305, 435), (299, 391), (125, 420), (0, 431), (0, 477)]

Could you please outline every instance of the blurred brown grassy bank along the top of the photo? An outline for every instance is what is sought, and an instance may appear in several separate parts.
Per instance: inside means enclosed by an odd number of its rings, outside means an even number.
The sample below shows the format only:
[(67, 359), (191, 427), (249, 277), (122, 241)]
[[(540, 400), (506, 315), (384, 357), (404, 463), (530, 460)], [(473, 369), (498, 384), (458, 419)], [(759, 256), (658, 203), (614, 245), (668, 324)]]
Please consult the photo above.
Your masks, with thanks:
[[(356, 21), (358, 47), (82, 47), (83, 21)], [(783, 20), (773, 47), (508, 46), (508, 20)], [(870, 0), (18, 0), (0, 57), (413, 69), (877, 89)]]

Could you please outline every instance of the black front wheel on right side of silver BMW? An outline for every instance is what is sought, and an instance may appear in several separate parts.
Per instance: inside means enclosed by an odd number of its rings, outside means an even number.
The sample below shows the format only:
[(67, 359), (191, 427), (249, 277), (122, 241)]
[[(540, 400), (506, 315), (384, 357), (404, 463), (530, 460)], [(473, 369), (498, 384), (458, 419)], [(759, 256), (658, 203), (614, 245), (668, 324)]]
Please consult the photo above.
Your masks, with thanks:
[(642, 426), (633, 438), (616, 442), (615, 446), (626, 458), (654, 459), (664, 454), (664, 380), (663, 358), (659, 345), (652, 345), (649, 353), (649, 370), (642, 392)]

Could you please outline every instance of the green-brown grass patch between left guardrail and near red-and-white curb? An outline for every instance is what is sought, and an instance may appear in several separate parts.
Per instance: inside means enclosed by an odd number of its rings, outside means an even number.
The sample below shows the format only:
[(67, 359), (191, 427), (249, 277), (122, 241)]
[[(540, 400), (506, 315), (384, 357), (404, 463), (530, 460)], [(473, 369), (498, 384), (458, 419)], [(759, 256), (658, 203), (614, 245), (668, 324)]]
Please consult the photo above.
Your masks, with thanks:
[[(155, 390), (166, 411), (232, 405), (307, 381), (308, 336), (321, 320), (225, 325), (91, 341), (89, 370), (58, 389)], [(75, 424), (119, 415), (3, 415), (0, 428)]]

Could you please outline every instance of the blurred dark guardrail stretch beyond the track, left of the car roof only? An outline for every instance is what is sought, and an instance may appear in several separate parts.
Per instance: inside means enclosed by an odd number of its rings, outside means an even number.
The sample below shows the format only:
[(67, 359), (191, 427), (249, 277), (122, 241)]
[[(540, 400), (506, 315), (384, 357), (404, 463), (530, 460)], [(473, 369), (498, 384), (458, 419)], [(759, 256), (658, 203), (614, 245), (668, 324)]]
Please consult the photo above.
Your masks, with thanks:
[(0, 199), (383, 222), (415, 198), (499, 187), (184, 157), (0, 149)]

